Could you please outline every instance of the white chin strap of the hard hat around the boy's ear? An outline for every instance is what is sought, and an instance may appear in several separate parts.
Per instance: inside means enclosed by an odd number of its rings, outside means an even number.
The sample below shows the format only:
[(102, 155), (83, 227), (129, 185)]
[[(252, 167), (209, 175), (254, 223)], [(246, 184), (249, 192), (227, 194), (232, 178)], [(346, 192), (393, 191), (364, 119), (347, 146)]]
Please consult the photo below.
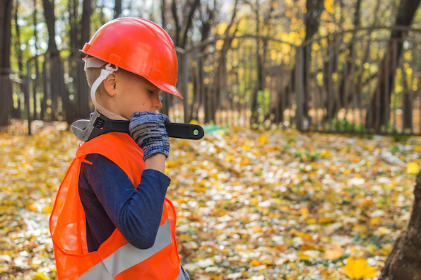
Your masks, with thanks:
[[(85, 70), (87, 68), (101, 68), (102, 66), (104, 66), (104, 64), (107, 63), (95, 57), (89, 57), (84, 60), (85, 60)], [(100, 76), (95, 80), (92, 87), (90, 88), (90, 99), (92, 99), (92, 103), (95, 106), (95, 110), (98, 110), (100, 113), (102, 113), (102, 115), (105, 115), (105, 117), (108, 117), (109, 119), (128, 120), (125, 117), (122, 117), (120, 115), (117, 115), (114, 112), (111, 112), (105, 109), (104, 107), (99, 105), (96, 100), (97, 88), (100, 86), (102, 81), (104, 81), (107, 78), (107, 76), (117, 71), (118, 69), (119, 69), (118, 66), (115, 66), (115, 68), (112, 68), (112, 64), (109, 63), (105, 66), (105, 69), (101, 70)]]

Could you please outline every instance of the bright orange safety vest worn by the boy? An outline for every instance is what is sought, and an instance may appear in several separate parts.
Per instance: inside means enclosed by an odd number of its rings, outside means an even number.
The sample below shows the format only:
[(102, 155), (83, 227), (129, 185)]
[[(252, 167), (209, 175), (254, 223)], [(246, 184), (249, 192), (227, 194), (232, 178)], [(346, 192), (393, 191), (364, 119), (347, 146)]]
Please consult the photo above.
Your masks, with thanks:
[(78, 192), (81, 163), (99, 153), (116, 163), (137, 187), (145, 163), (143, 151), (128, 134), (111, 132), (81, 141), (61, 182), (49, 220), (59, 280), (184, 280), (175, 241), (176, 212), (165, 198), (155, 243), (146, 250), (131, 245), (116, 228), (95, 252), (88, 252), (85, 211)]

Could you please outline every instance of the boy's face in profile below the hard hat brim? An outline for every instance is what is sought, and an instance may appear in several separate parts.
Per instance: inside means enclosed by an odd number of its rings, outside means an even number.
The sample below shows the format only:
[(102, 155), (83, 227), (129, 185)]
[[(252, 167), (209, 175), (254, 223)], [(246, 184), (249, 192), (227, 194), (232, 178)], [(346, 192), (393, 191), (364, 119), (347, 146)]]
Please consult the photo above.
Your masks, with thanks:
[(134, 112), (155, 112), (162, 107), (158, 95), (160, 89), (135, 74), (117, 74), (114, 92), (110, 105), (114, 112), (126, 119), (130, 119)]

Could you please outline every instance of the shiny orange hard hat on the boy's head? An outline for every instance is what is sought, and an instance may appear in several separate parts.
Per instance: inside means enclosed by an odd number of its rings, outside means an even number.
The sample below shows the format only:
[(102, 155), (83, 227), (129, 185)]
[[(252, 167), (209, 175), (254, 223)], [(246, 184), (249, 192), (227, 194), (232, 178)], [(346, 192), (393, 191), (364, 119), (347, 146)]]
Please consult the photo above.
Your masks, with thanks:
[(183, 98), (177, 84), (177, 53), (170, 35), (144, 18), (116, 18), (80, 50), (146, 78), (161, 91)]

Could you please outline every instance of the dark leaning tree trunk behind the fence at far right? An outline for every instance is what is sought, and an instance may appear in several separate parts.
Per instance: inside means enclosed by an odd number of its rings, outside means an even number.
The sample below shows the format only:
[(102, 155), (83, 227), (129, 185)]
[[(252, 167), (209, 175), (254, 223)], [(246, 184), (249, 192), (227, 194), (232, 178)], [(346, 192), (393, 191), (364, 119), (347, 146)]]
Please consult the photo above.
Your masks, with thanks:
[[(401, 0), (395, 26), (409, 26), (419, 5), (420, 0)], [(389, 107), (393, 91), (391, 86), (395, 78), (393, 61), (396, 59), (397, 62), (399, 57), (401, 57), (402, 38), (403, 31), (394, 30), (392, 32), (387, 53), (379, 67), (379, 81), (369, 102), (366, 124), (367, 128), (375, 129), (376, 132), (379, 132), (380, 127), (386, 126), (389, 122)], [(389, 93), (385, 93), (386, 86), (389, 87)]]

